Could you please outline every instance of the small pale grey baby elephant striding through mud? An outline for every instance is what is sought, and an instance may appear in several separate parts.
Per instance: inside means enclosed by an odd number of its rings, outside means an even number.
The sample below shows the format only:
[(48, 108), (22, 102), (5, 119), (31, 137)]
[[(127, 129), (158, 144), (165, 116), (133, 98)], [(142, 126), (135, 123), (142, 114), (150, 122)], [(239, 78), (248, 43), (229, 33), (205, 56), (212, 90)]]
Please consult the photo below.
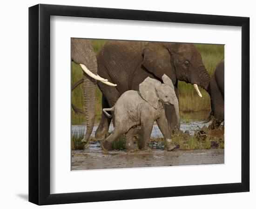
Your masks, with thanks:
[(155, 120), (165, 137), (167, 150), (175, 149), (165, 116), (164, 104), (174, 105), (178, 124), (180, 124), (179, 102), (171, 79), (164, 74), (162, 80), (163, 84), (148, 77), (140, 84), (140, 91), (126, 91), (112, 108), (103, 109), (108, 117), (111, 115), (106, 111), (114, 111), (115, 114), (114, 131), (101, 141), (103, 150), (109, 150), (112, 143), (122, 134), (126, 134), (127, 151), (136, 150), (133, 139), (137, 126), (142, 127), (142, 150), (149, 150), (150, 135)]

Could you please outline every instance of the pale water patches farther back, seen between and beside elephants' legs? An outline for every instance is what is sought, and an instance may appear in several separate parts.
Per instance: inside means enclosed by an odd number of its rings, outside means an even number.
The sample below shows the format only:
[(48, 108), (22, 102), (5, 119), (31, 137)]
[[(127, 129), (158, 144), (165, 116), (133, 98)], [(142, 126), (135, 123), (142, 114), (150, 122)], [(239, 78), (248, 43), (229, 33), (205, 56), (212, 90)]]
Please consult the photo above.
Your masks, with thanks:
[[(193, 135), (195, 133), (195, 130), (198, 128), (202, 128), (203, 126), (209, 126), (211, 122), (205, 122), (205, 121), (191, 121), (189, 123), (184, 123), (181, 122), (181, 130), (182, 131), (189, 131), (189, 134)], [(94, 124), (93, 132), (92, 132), (92, 137), (94, 137), (95, 131), (97, 130), (99, 124)], [(113, 124), (111, 123), (109, 126), (109, 132), (113, 131), (114, 127)], [(86, 131), (86, 126), (85, 125), (72, 125), (72, 132), (81, 132), (81, 131)], [(151, 133), (152, 138), (160, 138), (163, 137), (161, 131), (159, 130), (157, 124), (154, 124), (153, 130)]]

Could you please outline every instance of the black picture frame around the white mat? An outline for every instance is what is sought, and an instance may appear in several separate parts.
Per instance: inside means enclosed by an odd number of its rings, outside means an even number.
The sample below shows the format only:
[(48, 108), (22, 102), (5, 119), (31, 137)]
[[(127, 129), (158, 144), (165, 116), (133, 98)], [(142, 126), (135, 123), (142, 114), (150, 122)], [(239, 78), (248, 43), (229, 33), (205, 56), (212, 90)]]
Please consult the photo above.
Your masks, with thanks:
[[(50, 194), (50, 16), (242, 26), (241, 183)], [(99, 202), (249, 191), (249, 18), (60, 5), (29, 8), (29, 202)]]

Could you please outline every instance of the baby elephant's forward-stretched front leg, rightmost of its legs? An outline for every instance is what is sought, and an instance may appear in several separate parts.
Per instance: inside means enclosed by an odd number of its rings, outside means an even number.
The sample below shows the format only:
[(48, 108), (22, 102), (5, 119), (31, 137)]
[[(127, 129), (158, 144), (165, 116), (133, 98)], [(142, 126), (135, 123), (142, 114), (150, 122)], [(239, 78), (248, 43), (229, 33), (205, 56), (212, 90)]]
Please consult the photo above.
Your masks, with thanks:
[(160, 131), (162, 132), (166, 144), (166, 148), (168, 151), (174, 150), (176, 145), (172, 143), (171, 139), (171, 130), (168, 128), (167, 118), (165, 116), (165, 111), (161, 112), (160, 118), (156, 120), (156, 124), (158, 125)]

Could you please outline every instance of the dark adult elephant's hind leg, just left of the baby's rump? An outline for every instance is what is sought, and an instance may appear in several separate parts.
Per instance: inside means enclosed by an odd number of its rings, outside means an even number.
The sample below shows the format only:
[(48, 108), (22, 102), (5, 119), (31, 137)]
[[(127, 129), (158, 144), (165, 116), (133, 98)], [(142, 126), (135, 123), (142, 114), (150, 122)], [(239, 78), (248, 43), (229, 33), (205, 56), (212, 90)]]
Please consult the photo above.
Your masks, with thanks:
[[(105, 98), (105, 96), (102, 94), (102, 109), (103, 108), (109, 108), (108, 101)], [(101, 121), (100, 124), (95, 132), (95, 138), (105, 138), (108, 134), (109, 125), (111, 122), (111, 118), (108, 118), (104, 112), (101, 114)]]

